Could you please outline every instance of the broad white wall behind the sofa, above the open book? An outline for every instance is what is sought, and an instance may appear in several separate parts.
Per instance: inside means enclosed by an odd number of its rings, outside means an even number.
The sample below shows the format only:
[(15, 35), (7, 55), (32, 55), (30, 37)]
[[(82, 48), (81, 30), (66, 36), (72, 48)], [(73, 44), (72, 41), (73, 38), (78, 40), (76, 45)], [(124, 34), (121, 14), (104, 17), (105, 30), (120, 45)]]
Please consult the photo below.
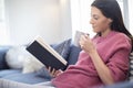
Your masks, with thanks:
[(6, 18), (12, 44), (27, 44), (35, 35), (48, 43), (71, 37), (70, 9), (62, 9), (60, 0), (6, 0)]

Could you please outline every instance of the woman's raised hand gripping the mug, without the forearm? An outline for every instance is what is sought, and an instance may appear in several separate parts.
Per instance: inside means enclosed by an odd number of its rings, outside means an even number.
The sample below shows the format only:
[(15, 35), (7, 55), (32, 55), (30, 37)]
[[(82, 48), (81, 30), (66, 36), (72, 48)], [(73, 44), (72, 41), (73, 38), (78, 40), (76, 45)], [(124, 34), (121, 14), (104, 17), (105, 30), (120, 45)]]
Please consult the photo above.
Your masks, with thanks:
[(91, 38), (89, 37), (89, 35), (86, 35), (86, 34), (81, 35), (80, 45), (81, 45), (81, 48), (89, 54), (95, 52), (95, 46), (94, 46), (93, 42), (91, 41)]

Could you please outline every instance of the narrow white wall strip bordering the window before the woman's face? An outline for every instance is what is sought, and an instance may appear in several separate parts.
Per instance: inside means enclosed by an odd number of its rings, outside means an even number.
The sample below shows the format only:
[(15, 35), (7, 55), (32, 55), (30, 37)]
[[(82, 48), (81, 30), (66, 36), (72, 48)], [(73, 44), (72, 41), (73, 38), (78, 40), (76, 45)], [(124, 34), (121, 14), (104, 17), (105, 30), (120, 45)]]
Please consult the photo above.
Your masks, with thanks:
[(72, 37), (71, 7), (70, 0), (60, 0), (61, 12), (61, 36), (63, 38)]

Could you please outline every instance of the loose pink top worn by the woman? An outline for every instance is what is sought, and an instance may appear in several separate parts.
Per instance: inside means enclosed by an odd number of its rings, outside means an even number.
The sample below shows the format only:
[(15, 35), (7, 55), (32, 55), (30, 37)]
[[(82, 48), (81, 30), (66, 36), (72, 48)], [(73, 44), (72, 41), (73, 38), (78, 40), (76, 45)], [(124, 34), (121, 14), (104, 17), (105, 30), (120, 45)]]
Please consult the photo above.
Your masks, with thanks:
[[(120, 32), (110, 32), (105, 37), (96, 36), (92, 40), (95, 43), (99, 55), (111, 70), (115, 82), (126, 79), (129, 70), (129, 54), (131, 52), (130, 38)], [(101, 70), (102, 72), (102, 70)], [(75, 65), (55, 77), (52, 84), (57, 88), (90, 88), (104, 85), (89, 54), (82, 51)]]

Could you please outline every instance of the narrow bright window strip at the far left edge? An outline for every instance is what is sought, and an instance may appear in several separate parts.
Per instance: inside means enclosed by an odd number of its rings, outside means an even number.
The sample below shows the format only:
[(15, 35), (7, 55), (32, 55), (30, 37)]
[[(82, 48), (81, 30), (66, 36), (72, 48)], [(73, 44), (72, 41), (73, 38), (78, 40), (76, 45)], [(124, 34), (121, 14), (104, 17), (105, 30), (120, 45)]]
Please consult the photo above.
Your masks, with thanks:
[(0, 0), (0, 45), (8, 44), (8, 31), (6, 29), (4, 0)]

